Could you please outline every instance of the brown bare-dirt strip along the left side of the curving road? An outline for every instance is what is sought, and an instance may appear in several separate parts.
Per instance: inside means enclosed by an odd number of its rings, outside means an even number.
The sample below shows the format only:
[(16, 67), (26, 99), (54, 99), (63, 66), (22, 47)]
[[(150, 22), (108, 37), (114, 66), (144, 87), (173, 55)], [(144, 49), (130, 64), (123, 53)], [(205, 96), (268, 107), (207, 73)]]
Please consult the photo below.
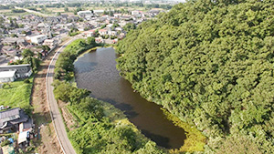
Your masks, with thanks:
[[(62, 46), (62, 45), (60, 45)], [(51, 58), (54, 56), (57, 47), (52, 51), (42, 62), (38, 73), (34, 78), (33, 93), (31, 97), (31, 104), (34, 108), (33, 118), (36, 125), (36, 130), (40, 132), (37, 140), (37, 151), (39, 154), (61, 154), (58, 139), (51, 122), (47, 106), (46, 93), (46, 75), (47, 67)]]

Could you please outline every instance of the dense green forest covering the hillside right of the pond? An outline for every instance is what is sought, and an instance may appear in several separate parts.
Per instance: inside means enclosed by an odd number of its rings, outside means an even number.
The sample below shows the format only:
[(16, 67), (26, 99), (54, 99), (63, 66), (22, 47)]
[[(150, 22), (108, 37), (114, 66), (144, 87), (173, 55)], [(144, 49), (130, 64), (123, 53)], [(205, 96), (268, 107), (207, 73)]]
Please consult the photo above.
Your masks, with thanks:
[(205, 153), (274, 153), (274, 2), (189, 0), (117, 46), (143, 98), (207, 137)]

